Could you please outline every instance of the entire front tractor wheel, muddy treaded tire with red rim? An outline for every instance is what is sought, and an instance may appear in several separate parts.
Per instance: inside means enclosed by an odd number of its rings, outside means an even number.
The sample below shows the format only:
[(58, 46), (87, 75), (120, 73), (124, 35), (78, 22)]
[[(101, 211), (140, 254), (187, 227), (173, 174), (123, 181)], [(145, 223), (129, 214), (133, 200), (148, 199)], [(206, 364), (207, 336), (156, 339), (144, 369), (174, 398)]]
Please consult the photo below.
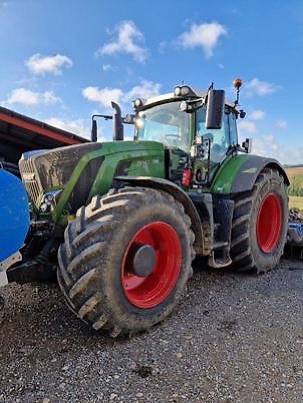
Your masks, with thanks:
[(58, 282), (70, 308), (112, 337), (164, 319), (192, 273), (190, 224), (183, 206), (153, 189), (94, 197), (58, 251)]

